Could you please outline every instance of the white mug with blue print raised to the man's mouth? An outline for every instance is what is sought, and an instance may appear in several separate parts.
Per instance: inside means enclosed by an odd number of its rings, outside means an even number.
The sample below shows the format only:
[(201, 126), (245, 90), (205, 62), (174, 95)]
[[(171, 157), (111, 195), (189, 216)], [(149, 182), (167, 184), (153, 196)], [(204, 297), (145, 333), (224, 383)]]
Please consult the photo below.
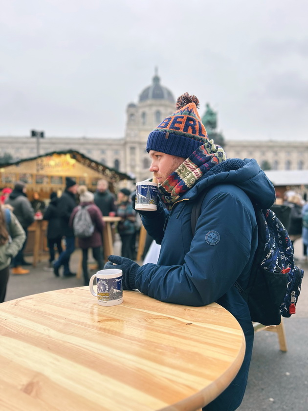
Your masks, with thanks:
[(157, 210), (157, 187), (158, 184), (152, 183), (152, 181), (140, 181), (136, 183), (136, 210)]

